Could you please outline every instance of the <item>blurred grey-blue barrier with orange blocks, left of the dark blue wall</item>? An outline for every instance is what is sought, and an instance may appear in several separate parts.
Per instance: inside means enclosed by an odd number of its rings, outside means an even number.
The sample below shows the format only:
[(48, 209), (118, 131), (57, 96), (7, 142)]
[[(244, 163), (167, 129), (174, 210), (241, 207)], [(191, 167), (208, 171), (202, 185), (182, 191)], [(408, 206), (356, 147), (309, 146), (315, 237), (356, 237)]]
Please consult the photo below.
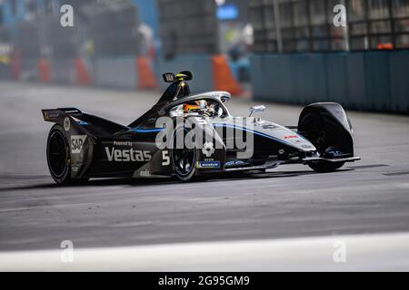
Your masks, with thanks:
[[(36, 64), (35, 64), (36, 63)], [(155, 63), (147, 57), (115, 57), (72, 59), (21, 59), (15, 56), (13, 73), (17, 80), (55, 82), (63, 84), (96, 85), (117, 89), (165, 89), (159, 73), (191, 71), (192, 92), (227, 91), (233, 95), (243, 92), (234, 78), (224, 55), (192, 54)], [(156, 75), (155, 71), (159, 72)]]

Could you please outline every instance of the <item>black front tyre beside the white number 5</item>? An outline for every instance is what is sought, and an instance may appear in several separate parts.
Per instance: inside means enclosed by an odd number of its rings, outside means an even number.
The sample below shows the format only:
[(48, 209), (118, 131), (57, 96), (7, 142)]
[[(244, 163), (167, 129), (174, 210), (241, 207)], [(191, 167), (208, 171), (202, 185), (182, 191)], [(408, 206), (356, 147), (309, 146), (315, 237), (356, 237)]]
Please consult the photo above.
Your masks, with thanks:
[(178, 131), (184, 131), (185, 134), (189, 132), (184, 126), (178, 126), (175, 128), (172, 140), (171, 140), (171, 163), (172, 169), (175, 172), (175, 177), (181, 181), (187, 182), (195, 178), (196, 175), (196, 160), (198, 152), (196, 148), (188, 149), (185, 144), (183, 149), (176, 148), (176, 134)]

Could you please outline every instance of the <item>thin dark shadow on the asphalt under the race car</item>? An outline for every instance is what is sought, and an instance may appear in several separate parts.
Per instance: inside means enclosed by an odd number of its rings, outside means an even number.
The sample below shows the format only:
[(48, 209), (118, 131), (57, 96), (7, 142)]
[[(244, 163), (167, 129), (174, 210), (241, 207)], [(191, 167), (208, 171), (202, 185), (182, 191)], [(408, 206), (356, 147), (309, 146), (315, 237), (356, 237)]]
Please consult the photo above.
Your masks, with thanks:
[[(353, 169), (339, 169), (337, 172), (351, 171)], [(274, 171), (263, 173), (224, 173), (217, 175), (208, 175), (200, 177), (189, 183), (199, 182), (220, 182), (220, 181), (237, 181), (237, 180), (251, 180), (251, 179), (274, 179), (274, 178), (294, 178), (308, 175), (322, 175), (324, 173), (316, 173), (312, 170), (303, 171)], [(33, 179), (33, 178), (32, 178)], [(44, 179), (44, 177), (39, 177)], [(155, 186), (167, 184), (183, 184), (183, 182), (175, 178), (163, 179), (91, 179), (86, 183), (75, 184), (61, 187), (55, 183), (36, 183), (27, 184), (18, 187), (0, 188), (0, 192), (14, 191), (14, 190), (30, 190), (30, 189), (62, 189), (62, 188), (86, 188), (86, 187), (109, 187), (109, 186)]]

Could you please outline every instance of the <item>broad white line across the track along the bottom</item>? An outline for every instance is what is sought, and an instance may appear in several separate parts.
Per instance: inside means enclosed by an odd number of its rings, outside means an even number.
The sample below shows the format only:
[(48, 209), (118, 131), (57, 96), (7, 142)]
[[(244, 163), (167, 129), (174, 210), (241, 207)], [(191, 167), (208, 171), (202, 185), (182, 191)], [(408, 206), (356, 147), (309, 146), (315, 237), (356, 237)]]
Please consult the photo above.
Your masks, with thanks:
[[(336, 241), (346, 262), (335, 263)], [(338, 245), (338, 246), (339, 246)], [(1, 271), (409, 271), (409, 234), (0, 252)]]

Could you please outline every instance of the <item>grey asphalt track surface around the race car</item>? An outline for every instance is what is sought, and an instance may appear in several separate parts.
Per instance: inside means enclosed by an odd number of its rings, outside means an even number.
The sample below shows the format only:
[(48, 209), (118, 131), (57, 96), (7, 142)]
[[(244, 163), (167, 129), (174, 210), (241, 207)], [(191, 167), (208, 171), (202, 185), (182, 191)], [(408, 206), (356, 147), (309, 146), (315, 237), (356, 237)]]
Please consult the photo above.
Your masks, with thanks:
[[(55, 186), (45, 159), (52, 124), (41, 109), (75, 106), (129, 124), (158, 97), (0, 82), (0, 254), (57, 250), (63, 240), (75, 248), (114, 249), (409, 231), (406, 116), (349, 111), (362, 160), (334, 173), (292, 165), (192, 183), (97, 179)], [(265, 104), (260, 116), (284, 125), (295, 125), (302, 110)], [(234, 115), (247, 115), (252, 105), (244, 99), (227, 104)], [(409, 269), (409, 256), (405, 261)]]

